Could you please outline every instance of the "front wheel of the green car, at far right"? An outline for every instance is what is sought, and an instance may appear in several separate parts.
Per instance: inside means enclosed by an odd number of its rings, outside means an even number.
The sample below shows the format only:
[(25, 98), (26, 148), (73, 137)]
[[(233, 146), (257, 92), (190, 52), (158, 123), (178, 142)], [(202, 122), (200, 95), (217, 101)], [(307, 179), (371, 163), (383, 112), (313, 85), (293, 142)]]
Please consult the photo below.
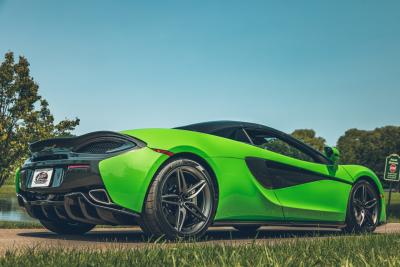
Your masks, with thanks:
[[(364, 200), (361, 201), (362, 199)], [(380, 197), (370, 182), (360, 180), (353, 186), (347, 206), (344, 232), (371, 233), (375, 231), (379, 221)]]

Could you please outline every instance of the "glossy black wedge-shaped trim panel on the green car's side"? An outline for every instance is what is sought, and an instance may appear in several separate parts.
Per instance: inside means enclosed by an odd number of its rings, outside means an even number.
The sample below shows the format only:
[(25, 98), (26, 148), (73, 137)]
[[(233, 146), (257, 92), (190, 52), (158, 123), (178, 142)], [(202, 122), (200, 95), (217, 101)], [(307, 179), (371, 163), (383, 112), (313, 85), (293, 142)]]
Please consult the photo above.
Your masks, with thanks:
[(262, 158), (248, 157), (246, 164), (257, 181), (268, 189), (286, 188), (320, 180), (334, 180), (352, 185), (351, 182), (340, 178)]

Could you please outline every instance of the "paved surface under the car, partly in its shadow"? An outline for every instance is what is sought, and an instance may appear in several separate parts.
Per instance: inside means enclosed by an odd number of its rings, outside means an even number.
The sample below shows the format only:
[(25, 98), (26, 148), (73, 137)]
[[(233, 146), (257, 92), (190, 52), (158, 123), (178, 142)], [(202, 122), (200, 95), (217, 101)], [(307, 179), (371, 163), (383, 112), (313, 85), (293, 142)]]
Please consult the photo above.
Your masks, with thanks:
[[(400, 233), (400, 223), (389, 223), (380, 226), (376, 234)], [(276, 244), (296, 238), (324, 238), (340, 234), (337, 230), (312, 228), (262, 227), (254, 235), (242, 234), (230, 227), (212, 227), (198, 244), (220, 243), (226, 245), (267, 243)], [(140, 248), (159, 246), (160, 243), (149, 242), (138, 227), (132, 228), (96, 228), (82, 236), (60, 236), (44, 229), (0, 229), (0, 254), (7, 250), (23, 247), (67, 249), (110, 249)], [(174, 245), (167, 243), (164, 245)]]

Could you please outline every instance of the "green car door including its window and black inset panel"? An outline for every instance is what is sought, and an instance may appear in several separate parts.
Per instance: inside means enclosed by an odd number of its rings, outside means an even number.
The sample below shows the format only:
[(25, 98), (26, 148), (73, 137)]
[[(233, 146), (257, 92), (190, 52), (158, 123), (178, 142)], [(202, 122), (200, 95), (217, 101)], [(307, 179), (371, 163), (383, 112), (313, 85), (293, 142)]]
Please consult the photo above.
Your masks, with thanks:
[(255, 178), (272, 189), (287, 222), (341, 223), (352, 178), (309, 146), (279, 132), (245, 129), (265, 152), (246, 159)]

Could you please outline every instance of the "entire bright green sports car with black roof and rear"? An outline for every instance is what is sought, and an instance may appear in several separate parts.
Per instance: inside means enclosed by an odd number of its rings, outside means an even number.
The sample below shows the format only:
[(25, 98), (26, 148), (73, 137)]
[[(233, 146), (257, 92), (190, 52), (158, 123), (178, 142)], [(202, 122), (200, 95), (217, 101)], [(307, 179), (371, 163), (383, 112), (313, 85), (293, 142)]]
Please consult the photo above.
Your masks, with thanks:
[(59, 234), (98, 224), (139, 224), (171, 239), (199, 237), (210, 225), (371, 232), (386, 221), (371, 170), (338, 165), (336, 148), (320, 153), (254, 123), (93, 132), (30, 151), (16, 174), (18, 202)]

